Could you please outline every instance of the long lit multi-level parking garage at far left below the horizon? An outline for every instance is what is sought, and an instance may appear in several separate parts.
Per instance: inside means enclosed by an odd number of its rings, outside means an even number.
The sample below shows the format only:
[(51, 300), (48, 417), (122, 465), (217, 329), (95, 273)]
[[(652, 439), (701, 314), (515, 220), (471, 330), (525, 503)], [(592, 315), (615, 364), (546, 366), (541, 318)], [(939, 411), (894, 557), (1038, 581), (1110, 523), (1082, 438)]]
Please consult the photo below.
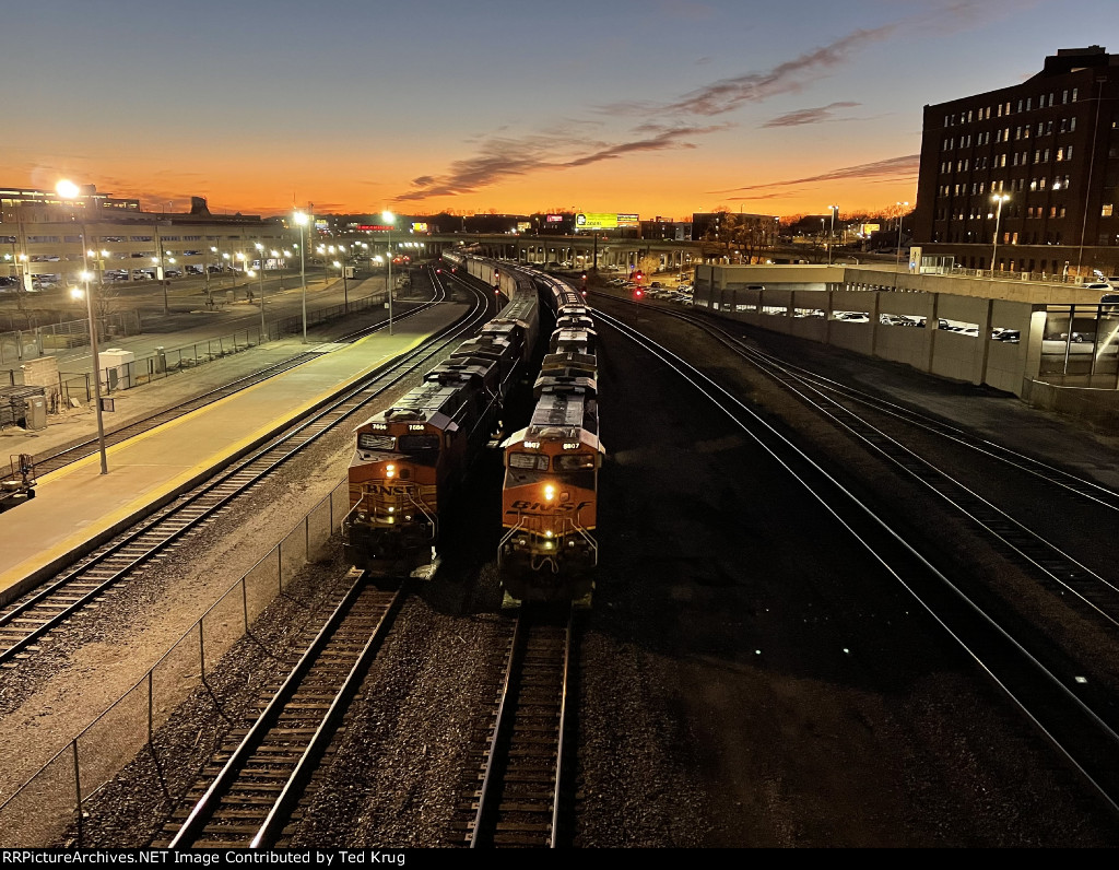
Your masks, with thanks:
[(0, 278), (28, 290), (77, 284), (84, 269), (102, 282), (208, 274), (251, 265), (257, 244), (275, 268), (291, 237), (298, 234), (285, 233), (278, 218), (214, 215), (198, 197), (190, 212), (156, 213), (141, 211), (138, 199), (98, 194), (93, 185), (68, 199), (49, 190), (0, 188)]

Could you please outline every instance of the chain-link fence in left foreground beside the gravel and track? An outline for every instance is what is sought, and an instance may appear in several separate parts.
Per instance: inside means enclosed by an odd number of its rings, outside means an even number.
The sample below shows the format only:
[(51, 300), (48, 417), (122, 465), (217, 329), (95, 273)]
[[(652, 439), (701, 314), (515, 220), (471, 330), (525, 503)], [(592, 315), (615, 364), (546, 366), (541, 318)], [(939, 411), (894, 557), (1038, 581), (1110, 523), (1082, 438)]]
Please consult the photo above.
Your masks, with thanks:
[[(325, 553), (346, 516), (348, 499), (348, 484), (342, 480), (143, 677), (0, 804), (0, 848), (57, 845), (68, 831), (76, 831), (74, 845), (81, 848), (96, 825), (85, 803), (140, 754), (147, 754), (151, 763), (144, 766), (151, 771), (147, 787), (166, 793), (171, 783), (163, 771), (173, 767), (175, 759), (197, 752), (198, 746), (157, 743), (153, 733), (191, 693), (208, 689), (207, 674), (220, 657), (248, 633), (253, 620), (283, 592), (284, 583)], [(198, 692), (196, 701), (199, 698), (201, 703), (217, 703), (207, 692)], [(179, 793), (169, 796), (178, 798), (189, 786), (189, 782), (176, 783)]]

